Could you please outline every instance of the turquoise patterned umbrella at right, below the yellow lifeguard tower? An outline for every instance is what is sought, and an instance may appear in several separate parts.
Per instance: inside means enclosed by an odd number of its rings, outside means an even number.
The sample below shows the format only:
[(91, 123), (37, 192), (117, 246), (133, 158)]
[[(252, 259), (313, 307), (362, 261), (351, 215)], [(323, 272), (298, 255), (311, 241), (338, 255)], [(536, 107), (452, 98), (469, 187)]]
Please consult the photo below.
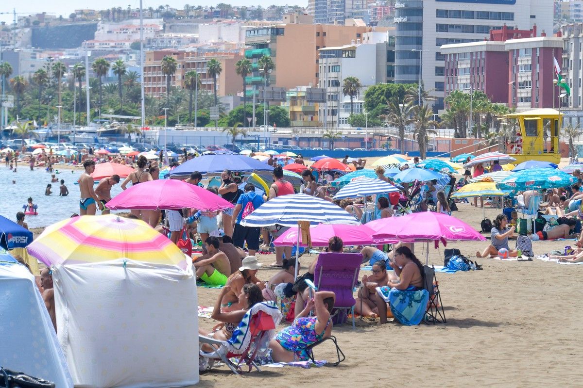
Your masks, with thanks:
[(498, 183), (501, 190), (537, 190), (540, 188), (567, 187), (577, 182), (577, 178), (557, 169), (538, 168), (513, 172), (510, 177)]

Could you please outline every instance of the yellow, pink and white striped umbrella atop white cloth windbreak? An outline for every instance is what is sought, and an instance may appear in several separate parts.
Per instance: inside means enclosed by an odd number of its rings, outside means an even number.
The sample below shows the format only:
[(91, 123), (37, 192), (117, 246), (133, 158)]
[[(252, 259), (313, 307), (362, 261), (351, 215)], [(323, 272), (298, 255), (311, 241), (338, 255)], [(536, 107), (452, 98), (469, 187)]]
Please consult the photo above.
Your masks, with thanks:
[(187, 257), (142, 220), (116, 215), (68, 218), (45, 228), (28, 246), (45, 265), (79, 264), (127, 258), (155, 264), (181, 265)]

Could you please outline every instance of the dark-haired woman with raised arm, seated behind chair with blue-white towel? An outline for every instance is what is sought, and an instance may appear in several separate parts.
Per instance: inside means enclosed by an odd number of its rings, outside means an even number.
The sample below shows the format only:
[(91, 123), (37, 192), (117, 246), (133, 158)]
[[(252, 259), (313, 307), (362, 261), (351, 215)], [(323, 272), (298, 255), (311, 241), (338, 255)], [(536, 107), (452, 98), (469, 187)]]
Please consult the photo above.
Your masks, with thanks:
[[(224, 323), (223, 327), (220, 328), (220, 324), (213, 328), (212, 332), (204, 329), (198, 329), (198, 333), (203, 336), (212, 337), (213, 339), (219, 341), (226, 341), (233, 336), (233, 332), (237, 329), (237, 326), (241, 322), (241, 319), (247, 314), (248, 309), (253, 307), (255, 304), (263, 301), (263, 296), (261, 294), (261, 289), (256, 284), (244, 284), (241, 287), (241, 291), (237, 295), (237, 305), (240, 308), (233, 309), (231, 311), (224, 311), (221, 309), (221, 300), (226, 294), (233, 292), (230, 286), (224, 286), (219, 293), (219, 297), (215, 302), (215, 308), (213, 309), (213, 314), (210, 318), (215, 319)], [(220, 329), (219, 329), (220, 328)], [(207, 345), (208, 346), (208, 345)], [(212, 348), (205, 348), (205, 351), (213, 351)]]

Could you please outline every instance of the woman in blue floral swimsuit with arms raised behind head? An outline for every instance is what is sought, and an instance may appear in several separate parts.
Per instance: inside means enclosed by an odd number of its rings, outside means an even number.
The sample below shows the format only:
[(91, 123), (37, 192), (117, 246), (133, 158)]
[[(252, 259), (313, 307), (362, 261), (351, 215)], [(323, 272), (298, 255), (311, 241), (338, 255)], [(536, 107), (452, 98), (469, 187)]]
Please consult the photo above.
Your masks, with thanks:
[[(318, 291), (309, 300), (291, 326), (283, 329), (269, 342), (275, 362), (307, 361), (307, 347), (332, 334), (330, 314), (334, 308), (334, 293)], [(315, 308), (315, 315), (308, 316)]]

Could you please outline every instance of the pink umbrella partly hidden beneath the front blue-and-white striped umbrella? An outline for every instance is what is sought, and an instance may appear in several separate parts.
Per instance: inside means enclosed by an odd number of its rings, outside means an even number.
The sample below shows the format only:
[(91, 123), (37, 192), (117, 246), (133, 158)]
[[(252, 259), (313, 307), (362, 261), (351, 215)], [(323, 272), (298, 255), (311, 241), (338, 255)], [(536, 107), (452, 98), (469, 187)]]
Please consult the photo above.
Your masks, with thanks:
[[(374, 231), (366, 225), (344, 225), (344, 224), (320, 224), (310, 228), (313, 247), (327, 247), (328, 240), (333, 236), (342, 239), (344, 245), (364, 245), (373, 244)], [(297, 245), (298, 228), (290, 227), (287, 232), (279, 236), (273, 245), (276, 247), (291, 247)], [(300, 243), (301, 247), (307, 244)]]

